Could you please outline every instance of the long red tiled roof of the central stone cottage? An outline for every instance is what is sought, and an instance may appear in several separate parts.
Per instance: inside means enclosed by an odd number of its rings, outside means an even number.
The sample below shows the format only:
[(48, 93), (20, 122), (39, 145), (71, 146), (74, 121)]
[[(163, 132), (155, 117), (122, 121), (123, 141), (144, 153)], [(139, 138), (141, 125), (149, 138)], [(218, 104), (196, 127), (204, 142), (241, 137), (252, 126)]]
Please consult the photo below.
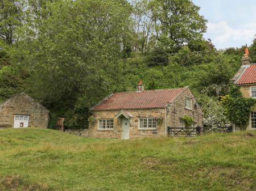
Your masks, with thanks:
[(111, 109), (139, 109), (139, 108), (164, 108), (186, 88), (118, 92), (110, 95), (92, 111)]

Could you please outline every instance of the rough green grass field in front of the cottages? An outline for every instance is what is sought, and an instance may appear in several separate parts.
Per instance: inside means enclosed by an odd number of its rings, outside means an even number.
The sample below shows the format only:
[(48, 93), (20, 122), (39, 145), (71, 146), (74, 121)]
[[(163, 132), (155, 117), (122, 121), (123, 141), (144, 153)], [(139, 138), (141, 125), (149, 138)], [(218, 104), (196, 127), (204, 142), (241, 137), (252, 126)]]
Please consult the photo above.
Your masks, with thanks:
[(113, 140), (0, 129), (0, 190), (256, 190), (256, 131)]

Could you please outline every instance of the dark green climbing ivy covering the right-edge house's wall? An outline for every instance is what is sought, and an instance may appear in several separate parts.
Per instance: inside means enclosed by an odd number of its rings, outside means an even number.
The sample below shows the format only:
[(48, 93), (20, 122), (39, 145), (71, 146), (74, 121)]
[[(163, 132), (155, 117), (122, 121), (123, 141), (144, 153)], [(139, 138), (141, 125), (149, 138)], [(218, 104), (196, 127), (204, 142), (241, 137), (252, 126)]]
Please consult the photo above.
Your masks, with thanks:
[(222, 97), (222, 104), (226, 109), (226, 115), (229, 121), (234, 122), (245, 130), (256, 100), (252, 98), (245, 98), (241, 96), (238, 87), (231, 88), (230, 95)]

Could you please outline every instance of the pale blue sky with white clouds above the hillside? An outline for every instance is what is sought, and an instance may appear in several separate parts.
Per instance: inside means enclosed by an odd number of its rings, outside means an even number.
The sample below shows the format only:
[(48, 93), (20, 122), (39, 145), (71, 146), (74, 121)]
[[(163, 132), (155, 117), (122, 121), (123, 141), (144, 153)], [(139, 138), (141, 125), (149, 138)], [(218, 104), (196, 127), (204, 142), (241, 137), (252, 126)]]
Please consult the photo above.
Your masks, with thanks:
[(205, 39), (217, 49), (251, 45), (256, 35), (256, 0), (192, 0), (208, 20)]

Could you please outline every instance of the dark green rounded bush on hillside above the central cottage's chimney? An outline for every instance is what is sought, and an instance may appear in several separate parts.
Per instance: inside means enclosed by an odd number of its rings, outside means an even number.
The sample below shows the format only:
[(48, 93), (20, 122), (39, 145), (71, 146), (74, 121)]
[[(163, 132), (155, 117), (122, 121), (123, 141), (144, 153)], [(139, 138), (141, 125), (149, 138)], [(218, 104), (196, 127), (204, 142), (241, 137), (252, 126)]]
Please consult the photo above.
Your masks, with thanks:
[(163, 46), (157, 46), (147, 56), (147, 65), (151, 66), (166, 66), (168, 64), (168, 54), (164, 50)]

